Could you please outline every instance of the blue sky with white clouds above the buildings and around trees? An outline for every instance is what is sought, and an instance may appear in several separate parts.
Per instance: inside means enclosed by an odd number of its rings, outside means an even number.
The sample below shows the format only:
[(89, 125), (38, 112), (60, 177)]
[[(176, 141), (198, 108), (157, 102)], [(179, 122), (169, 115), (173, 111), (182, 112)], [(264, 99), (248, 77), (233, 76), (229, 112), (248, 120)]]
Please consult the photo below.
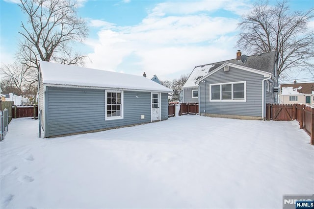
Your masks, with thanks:
[[(0, 62), (13, 63), (18, 31), (25, 16), (18, 0), (0, 0)], [(235, 58), (237, 23), (253, 0), (79, 0), (78, 15), (89, 36), (76, 49), (91, 62), (86, 67), (160, 80), (179, 78), (195, 66)], [(270, 1), (275, 3), (275, 1)], [(293, 10), (314, 7), (314, 0), (292, 0)], [(310, 23), (314, 29), (314, 21)], [(242, 54), (247, 54), (242, 50)], [(247, 54), (251, 55), (251, 54)], [(291, 74), (299, 82), (309, 74)]]

